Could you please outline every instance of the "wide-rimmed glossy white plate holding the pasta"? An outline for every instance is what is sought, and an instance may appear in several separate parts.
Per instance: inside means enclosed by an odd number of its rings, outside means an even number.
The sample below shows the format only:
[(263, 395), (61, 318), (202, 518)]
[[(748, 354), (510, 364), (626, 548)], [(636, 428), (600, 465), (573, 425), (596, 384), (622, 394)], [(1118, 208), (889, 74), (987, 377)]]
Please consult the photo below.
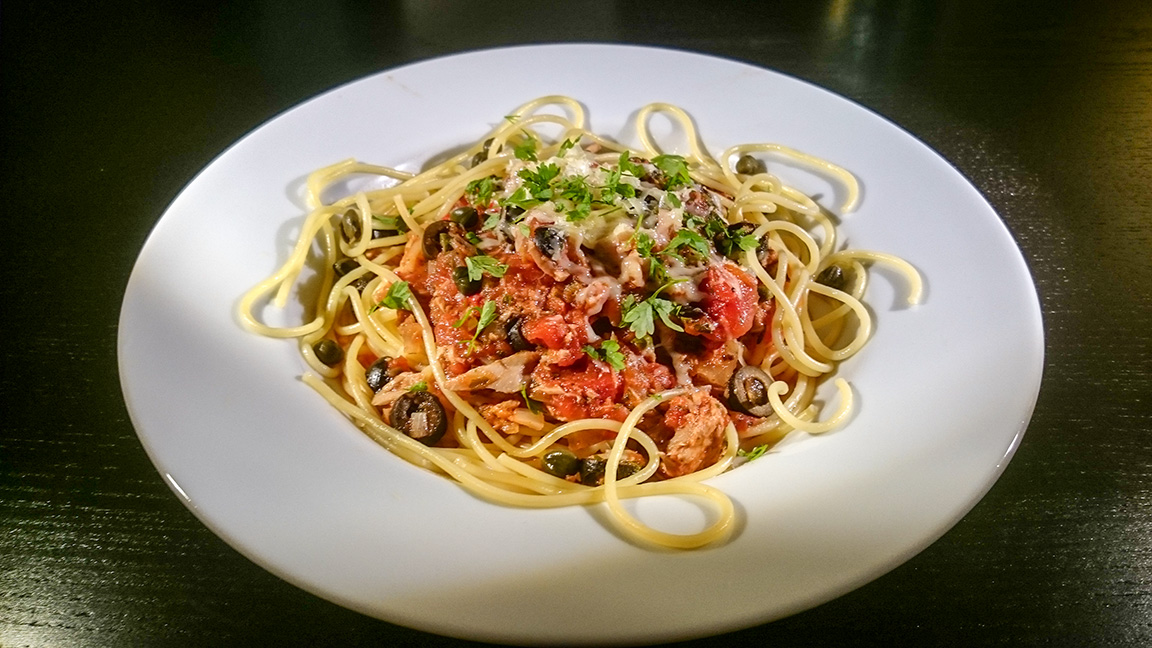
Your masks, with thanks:
[[(376, 446), (298, 380), (295, 344), (241, 330), (237, 297), (276, 268), (301, 182), (355, 157), (416, 168), (541, 95), (593, 130), (651, 101), (685, 108), (713, 152), (779, 142), (855, 172), (851, 247), (923, 272), (923, 306), (878, 271), (871, 344), (840, 369), (859, 409), (713, 480), (741, 514), (727, 544), (642, 549), (602, 513), (479, 500)], [(836, 206), (839, 189), (786, 180)], [(551, 45), (425, 61), (357, 81), (262, 126), (172, 203), (120, 319), (124, 398), (160, 474), (225, 541), (281, 578), (389, 621), (492, 641), (636, 642), (744, 627), (817, 605), (943, 534), (991, 488), (1028, 424), (1043, 330), (1024, 261), (979, 193), (882, 118), (776, 73), (699, 54)], [(684, 506), (679, 507), (679, 506)], [(700, 514), (644, 503), (668, 522)]]

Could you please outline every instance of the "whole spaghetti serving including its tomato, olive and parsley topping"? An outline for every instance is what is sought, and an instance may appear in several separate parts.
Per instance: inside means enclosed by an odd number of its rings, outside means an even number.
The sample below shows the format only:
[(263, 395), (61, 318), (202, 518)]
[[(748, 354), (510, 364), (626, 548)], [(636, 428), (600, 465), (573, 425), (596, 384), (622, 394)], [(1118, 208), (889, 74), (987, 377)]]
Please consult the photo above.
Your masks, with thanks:
[[(655, 113), (680, 123), (689, 155), (659, 150)], [(355, 160), (314, 172), (312, 212), (287, 262), (241, 299), (241, 322), (296, 338), (308, 385), (482, 497), (605, 503), (621, 533), (665, 547), (725, 538), (732, 502), (704, 480), (848, 416), (843, 379), (823, 421), (813, 397), (871, 333), (865, 264), (905, 276), (910, 303), (920, 279), (896, 257), (838, 250), (829, 214), (757, 156), (842, 182), (842, 211), (858, 197), (847, 171), (776, 144), (713, 159), (667, 104), (636, 119), (631, 151), (585, 130), (574, 99), (543, 97), (417, 174)], [(392, 182), (325, 203), (350, 174)], [(311, 319), (262, 323), (258, 304), (282, 307), (317, 248)], [(715, 514), (698, 533), (658, 530), (621, 504), (647, 495), (702, 497)]]

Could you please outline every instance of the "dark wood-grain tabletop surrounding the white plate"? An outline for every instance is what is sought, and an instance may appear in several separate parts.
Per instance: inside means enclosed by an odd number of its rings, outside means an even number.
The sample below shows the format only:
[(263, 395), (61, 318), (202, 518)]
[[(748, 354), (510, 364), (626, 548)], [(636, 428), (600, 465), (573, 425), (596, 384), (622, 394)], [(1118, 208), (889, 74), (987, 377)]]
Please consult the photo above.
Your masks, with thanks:
[(12, 1), (0, 12), (6, 648), (457, 643), (296, 589), (202, 526), (136, 439), (116, 321), (166, 205), (247, 131), (385, 68), (562, 40), (720, 54), (879, 112), (984, 193), (1044, 308), (1036, 414), (971, 513), (851, 594), (694, 645), (1152, 645), (1152, 3)]

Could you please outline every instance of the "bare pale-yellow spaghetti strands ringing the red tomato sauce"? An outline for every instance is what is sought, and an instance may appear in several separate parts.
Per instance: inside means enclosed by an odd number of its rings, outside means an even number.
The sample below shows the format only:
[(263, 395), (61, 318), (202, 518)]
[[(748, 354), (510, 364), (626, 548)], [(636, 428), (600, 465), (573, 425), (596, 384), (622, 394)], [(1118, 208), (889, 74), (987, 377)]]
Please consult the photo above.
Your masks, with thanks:
[[(552, 112), (545, 112), (546, 108)], [(558, 108), (562, 114), (556, 114)], [(505, 435), (468, 399), (448, 389), (448, 376), (440, 361), (442, 351), (437, 347), (432, 325), (416, 297), (409, 297), (406, 307), (418, 325), (419, 344), (406, 339), (396, 310), (380, 308), (376, 302), (386, 287), (400, 281), (395, 266), (410, 236), (418, 236), (426, 224), (444, 218), (470, 182), (501, 175), (509, 165), (517, 164), (514, 143), (525, 137), (536, 140), (540, 143), (538, 156), (541, 160), (558, 155), (564, 140), (599, 149), (600, 152), (589, 155), (600, 164), (611, 163), (627, 150), (616, 142), (588, 133), (583, 106), (569, 97), (541, 97), (522, 105), (476, 144), (420, 173), (356, 160), (343, 160), (312, 173), (305, 187), (305, 201), (312, 212), (301, 225), (296, 244), (280, 269), (240, 299), (237, 318), (253, 333), (296, 338), (309, 367), (302, 377), (306, 385), (395, 455), (442, 473), (479, 497), (523, 507), (604, 505), (614, 528), (641, 544), (692, 549), (723, 542), (736, 527), (736, 510), (728, 496), (705, 480), (740, 461), (742, 444), (745, 447), (773, 444), (796, 430), (823, 434), (842, 425), (851, 415), (852, 390), (843, 379), (835, 380), (838, 407), (823, 421), (817, 420), (820, 409), (814, 399), (821, 378), (833, 372), (838, 362), (857, 353), (871, 334), (871, 316), (861, 301), (867, 285), (865, 264), (884, 264), (903, 276), (909, 286), (909, 303), (919, 301), (923, 282), (911, 264), (892, 255), (835, 251), (835, 226), (820, 205), (773, 174), (738, 174), (733, 160), (752, 153), (779, 156), (824, 173), (844, 189), (841, 212), (851, 211), (859, 201), (858, 183), (848, 171), (771, 143), (732, 146), (714, 159), (704, 149), (690, 115), (669, 104), (650, 104), (636, 114), (641, 155), (649, 159), (661, 155), (650, 127), (657, 114), (664, 114), (679, 126), (689, 149), (684, 157), (691, 178), (717, 193), (729, 223), (746, 220), (753, 224), (756, 238), (766, 239), (776, 258), (774, 266), (765, 268), (757, 259), (756, 250), (744, 253), (743, 265), (751, 269), (775, 307), (768, 327), (771, 334), (741, 359), (751, 361), (772, 377), (767, 398), (773, 413), (740, 434), (729, 422), (723, 430), (720, 458), (710, 466), (684, 476), (653, 480), (661, 452), (639, 427), (642, 417), (661, 402), (699, 387), (682, 385), (652, 394), (636, 405), (623, 422), (585, 419), (561, 424), (545, 422), (541, 428), (538, 422), (541, 419), (532, 419), (537, 421), (532, 429), (522, 425), (525, 434)], [(545, 137), (540, 128), (559, 131), (561, 136)], [(353, 175), (376, 176), (387, 186), (325, 202), (324, 194), (329, 187)], [(373, 239), (372, 219), (379, 217), (403, 221), (411, 233)], [(359, 225), (359, 234), (353, 241), (336, 233), (349, 218)], [(319, 255), (316, 255), (317, 249)], [(313, 255), (311, 261), (310, 255)], [(358, 266), (338, 278), (333, 264), (342, 257), (355, 259)], [(320, 269), (317, 280), (321, 289), (310, 309), (311, 318), (296, 326), (264, 324), (257, 311), (268, 303), (282, 308), (297, 288), (302, 272), (313, 263)], [(817, 280), (833, 265), (843, 270), (846, 279), (836, 287)], [(364, 281), (366, 286), (359, 285)], [(359, 289), (354, 284), (359, 285)], [(312, 345), (333, 334), (343, 338), (347, 345), (342, 362), (328, 367), (317, 357)], [(424, 368), (424, 375), (452, 406), (448, 434), (458, 447), (427, 447), (382, 420), (380, 409), (372, 405), (374, 394), (359, 360), (366, 352), (378, 357), (403, 356), (412, 367)], [(539, 467), (540, 458), (558, 443), (589, 430), (602, 431), (612, 438), (605, 446), (602, 485), (575, 483)], [(617, 479), (626, 451), (635, 453), (637, 450), (645, 457), (644, 466)], [(705, 504), (711, 511), (711, 521), (695, 533), (669, 533), (645, 523), (624, 504), (626, 499), (661, 495), (687, 496)]]

